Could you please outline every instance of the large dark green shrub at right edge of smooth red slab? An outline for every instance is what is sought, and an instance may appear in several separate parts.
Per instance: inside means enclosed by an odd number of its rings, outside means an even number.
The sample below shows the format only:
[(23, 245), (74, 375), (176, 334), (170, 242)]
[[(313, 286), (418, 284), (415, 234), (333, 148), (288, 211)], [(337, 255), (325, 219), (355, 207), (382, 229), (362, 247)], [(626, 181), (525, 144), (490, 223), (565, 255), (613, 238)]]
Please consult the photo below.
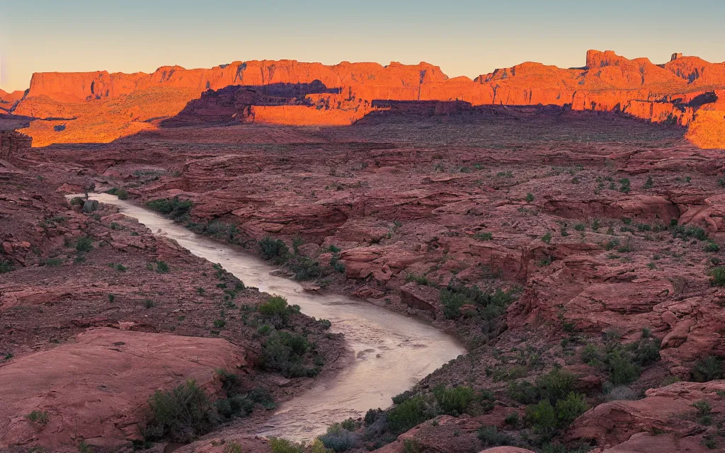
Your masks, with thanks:
[(167, 437), (188, 442), (207, 433), (215, 424), (212, 404), (193, 379), (171, 390), (157, 390), (149, 399), (149, 406), (152, 421), (146, 431), (152, 439)]

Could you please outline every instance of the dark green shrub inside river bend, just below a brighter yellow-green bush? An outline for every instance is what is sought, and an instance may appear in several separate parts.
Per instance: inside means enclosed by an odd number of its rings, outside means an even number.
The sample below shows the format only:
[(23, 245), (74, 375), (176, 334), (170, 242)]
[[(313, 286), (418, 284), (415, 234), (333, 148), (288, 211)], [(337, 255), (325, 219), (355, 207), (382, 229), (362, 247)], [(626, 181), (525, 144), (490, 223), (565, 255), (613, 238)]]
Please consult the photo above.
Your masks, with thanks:
[(273, 332), (262, 346), (262, 366), (265, 370), (280, 372), (286, 378), (312, 375), (304, 365), (310, 344), (303, 336), (288, 332)]

